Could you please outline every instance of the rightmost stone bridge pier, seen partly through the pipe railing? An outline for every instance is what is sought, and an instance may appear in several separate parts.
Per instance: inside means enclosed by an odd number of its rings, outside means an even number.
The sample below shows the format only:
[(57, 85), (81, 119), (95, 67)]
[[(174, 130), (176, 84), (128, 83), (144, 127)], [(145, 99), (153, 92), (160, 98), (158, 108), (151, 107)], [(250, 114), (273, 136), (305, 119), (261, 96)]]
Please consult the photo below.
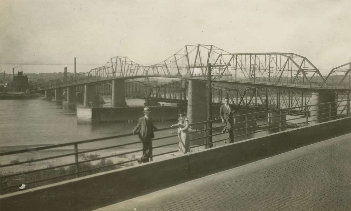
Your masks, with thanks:
[(311, 106), (310, 107), (310, 122), (309, 124), (322, 123), (336, 119), (337, 115), (337, 104), (335, 103), (336, 94), (335, 92), (318, 92), (311, 93), (311, 105), (328, 103), (323, 105)]

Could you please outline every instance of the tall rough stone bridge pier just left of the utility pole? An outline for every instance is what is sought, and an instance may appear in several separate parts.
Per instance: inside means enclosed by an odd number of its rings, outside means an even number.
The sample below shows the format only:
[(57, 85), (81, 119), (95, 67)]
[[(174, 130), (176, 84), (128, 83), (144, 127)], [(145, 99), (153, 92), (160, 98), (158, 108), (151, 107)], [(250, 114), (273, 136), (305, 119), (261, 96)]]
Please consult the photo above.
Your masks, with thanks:
[[(188, 111), (189, 123), (206, 121), (207, 119), (206, 84), (201, 81), (188, 81)], [(204, 125), (194, 125), (194, 129), (203, 129)]]

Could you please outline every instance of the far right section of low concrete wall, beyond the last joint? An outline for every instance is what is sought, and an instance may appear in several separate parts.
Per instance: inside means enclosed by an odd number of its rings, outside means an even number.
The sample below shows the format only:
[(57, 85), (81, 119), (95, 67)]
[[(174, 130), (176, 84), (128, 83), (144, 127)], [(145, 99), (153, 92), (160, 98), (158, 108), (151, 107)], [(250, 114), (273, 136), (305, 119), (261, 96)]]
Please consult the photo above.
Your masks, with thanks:
[(290, 146), (297, 148), (351, 132), (351, 117), (300, 127), (289, 132)]

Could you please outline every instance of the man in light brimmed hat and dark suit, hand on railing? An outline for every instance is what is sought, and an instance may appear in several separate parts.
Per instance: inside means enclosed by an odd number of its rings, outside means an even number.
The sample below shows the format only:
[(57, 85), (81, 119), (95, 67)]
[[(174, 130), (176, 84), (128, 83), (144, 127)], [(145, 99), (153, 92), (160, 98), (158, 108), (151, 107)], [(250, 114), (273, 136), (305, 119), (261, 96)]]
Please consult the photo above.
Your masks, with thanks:
[(141, 117), (138, 121), (137, 126), (133, 130), (133, 134), (139, 131), (139, 138), (143, 144), (143, 156), (138, 159), (138, 163), (146, 163), (152, 161), (152, 143), (151, 139), (154, 138), (153, 130), (158, 130), (152, 123), (152, 119), (149, 116), (150, 108), (144, 108), (144, 117)]

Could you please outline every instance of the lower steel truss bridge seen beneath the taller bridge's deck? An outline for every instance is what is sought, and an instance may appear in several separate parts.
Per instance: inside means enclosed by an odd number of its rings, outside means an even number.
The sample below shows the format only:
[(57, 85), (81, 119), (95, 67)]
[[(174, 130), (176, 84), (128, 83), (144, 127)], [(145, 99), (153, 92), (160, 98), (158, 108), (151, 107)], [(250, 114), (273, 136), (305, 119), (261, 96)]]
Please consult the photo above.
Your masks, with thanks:
[[(112, 85), (109, 83), (95, 85), (97, 94), (111, 95)], [(80, 86), (78, 92), (84, 92)], [(151, 86), (136, 80), (127, 80), (124, 84), (125, 96), (130, 98), (148, 99), (161, 102), (186, 103), (188, 92), (188, 81), (178, 80), (157, 86)], [(348, 92), (338, 92), (337, 100), (347, 99)], [(230, 103), (236, 105), (240, 110), (262, 111), (280, 108), (292, 108), (311, 105), (311, 92), (287, 90), (267, 87), (247, 87), (238, 89), (228, 84), (212, 84), (212, 105), (220, 106), (224, 98), (229, 97)], [(287, 110), (285, 113), (296, 112)]]

